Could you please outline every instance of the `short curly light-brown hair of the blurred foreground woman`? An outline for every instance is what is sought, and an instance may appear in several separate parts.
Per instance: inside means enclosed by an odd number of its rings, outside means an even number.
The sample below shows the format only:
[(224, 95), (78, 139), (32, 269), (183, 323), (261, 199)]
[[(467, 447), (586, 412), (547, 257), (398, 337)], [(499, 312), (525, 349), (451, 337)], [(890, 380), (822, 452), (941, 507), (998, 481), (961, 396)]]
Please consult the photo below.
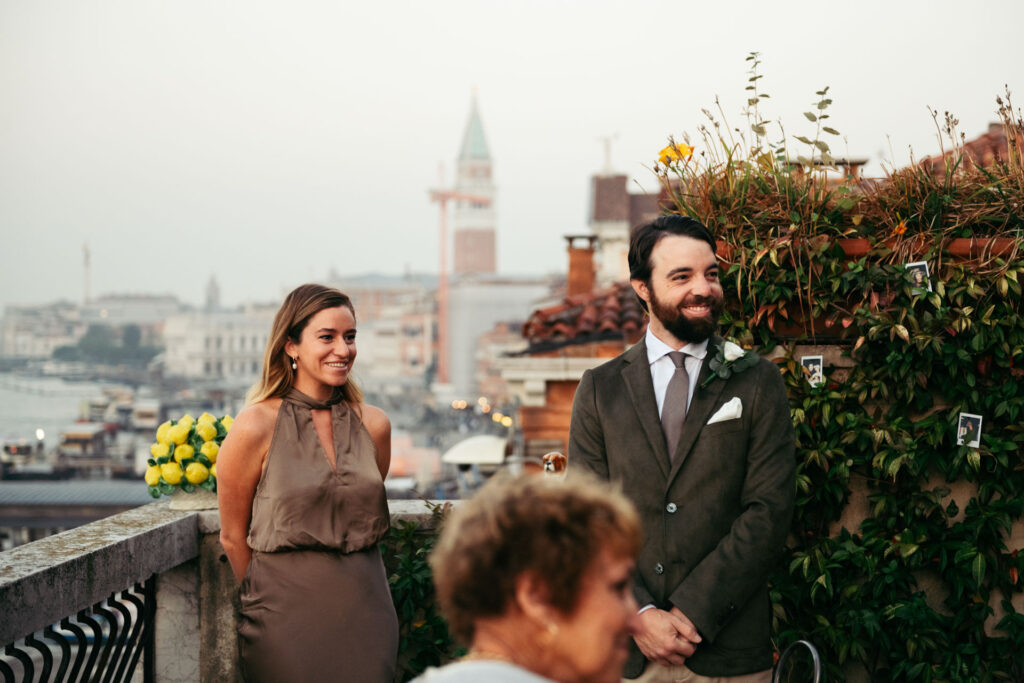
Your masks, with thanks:
[(430, 565), (449, 625), (468, 643), (476, 620), (510, 608), (523, 573), (545, 585), (552, 607), (570, 614), (598, 556), (635, 557), (640, 543), (636, 510), (610, 484), (498, 475), (451, 513)]

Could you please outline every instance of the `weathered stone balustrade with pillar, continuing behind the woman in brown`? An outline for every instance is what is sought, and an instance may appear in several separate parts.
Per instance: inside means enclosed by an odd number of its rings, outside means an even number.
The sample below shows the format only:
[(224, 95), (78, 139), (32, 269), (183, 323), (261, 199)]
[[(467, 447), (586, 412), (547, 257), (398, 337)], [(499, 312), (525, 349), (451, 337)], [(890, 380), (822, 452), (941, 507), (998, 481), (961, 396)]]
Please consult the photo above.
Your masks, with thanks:
[[(431, 528), (425, 502), (389, 506), (392, 522)], [(172, 510), (165, 500), (0, 553), (0, 647), (155, 575), (155, 680), (241, 680), (237, 584), (219, 532), (216, 510)]]

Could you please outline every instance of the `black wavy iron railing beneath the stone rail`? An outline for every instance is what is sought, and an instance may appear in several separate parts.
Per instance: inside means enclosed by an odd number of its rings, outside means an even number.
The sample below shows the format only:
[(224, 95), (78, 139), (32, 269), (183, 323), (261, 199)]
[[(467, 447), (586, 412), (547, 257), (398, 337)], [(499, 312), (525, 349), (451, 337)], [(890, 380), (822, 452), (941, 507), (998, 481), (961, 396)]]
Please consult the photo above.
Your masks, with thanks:
[(152, 683), (156, 586), (154, 575), (7, 645), (0, 654), (3, 683), (124, 683), (140, 657), (142, 680)]

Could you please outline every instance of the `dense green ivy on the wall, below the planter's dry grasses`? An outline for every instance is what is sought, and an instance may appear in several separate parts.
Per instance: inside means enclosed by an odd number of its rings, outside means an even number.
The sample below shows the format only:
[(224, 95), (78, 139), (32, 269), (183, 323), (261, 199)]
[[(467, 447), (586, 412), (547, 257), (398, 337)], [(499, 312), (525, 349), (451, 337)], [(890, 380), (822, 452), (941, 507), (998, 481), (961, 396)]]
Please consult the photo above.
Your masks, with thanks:
[[(851, 260), (822, 241), (804, 256), (766, 255), (757, 296), (739, 291), (738, 263), (725, 278), (725, 334), (781, 355), (797, 432), (779, 647), (809, 638), (835, 680), (1024, 680), (1024, 261), (956, 260), (937, 240), (913, 256), (932, 266), (928, 292), (884, 245)], [(792, 306), (807, 268), (819, 319), (840, 315), (786, 338), (783, 318), (758, 313)], [(811, 341), (852, 367), (826, 362), (812, 386)], [(961, 412), (983, 416), (979, 447), (957, 445)]]

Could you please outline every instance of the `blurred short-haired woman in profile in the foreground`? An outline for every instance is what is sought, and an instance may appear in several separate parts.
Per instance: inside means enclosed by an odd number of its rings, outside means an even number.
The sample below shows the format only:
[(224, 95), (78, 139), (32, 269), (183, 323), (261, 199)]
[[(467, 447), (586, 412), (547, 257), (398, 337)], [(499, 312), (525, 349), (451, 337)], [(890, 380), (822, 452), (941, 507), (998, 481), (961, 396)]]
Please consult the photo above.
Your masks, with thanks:
[(452, 513), (430, 559), (469, 653), (416, 682), (620, 681), (639, 548), (636, 511), (609, 484), (492, 479)]

